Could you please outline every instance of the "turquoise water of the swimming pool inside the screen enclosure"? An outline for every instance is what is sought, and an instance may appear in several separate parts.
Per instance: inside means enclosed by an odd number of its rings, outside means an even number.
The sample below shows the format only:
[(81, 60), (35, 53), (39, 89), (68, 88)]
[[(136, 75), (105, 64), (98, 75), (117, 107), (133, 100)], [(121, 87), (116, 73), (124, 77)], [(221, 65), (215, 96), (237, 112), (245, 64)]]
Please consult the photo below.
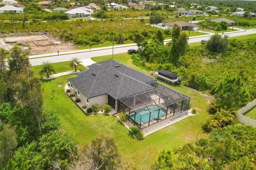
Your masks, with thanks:
[[(144, 107), (144, 108), (140, 108), (136, 111), (136, 117), (135, 117), (135, 122), (137, 122), (138, 124), (141, 123), (147, 123), (149, 122), (149, 111), (151, 112), (150, 115), (150, 121), (157, 119), (158, 117), (158, 107), (157, 106), (148, 106)], [(134, 112), (130, 113), (130, 118), (134, 121)], [(161, 108), (159, 111), (159, 117), (166, 115), (166, 110)], [(140, 120), (141, 117), (141, 120)]]

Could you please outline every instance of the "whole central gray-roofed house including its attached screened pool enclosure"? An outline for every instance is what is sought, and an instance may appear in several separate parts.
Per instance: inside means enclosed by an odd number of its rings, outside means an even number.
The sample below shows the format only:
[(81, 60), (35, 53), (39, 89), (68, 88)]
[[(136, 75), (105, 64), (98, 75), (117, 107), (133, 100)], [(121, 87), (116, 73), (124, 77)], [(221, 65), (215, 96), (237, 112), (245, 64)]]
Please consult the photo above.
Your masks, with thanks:
[(81, 104), (109, 104), (116, 112), (126, 113), (141, 129), (166, 118), (187, 114), (190, 97), (158, 83), (114, 60), (92, 64), (89, 70), (69, 78), (70, 92)]

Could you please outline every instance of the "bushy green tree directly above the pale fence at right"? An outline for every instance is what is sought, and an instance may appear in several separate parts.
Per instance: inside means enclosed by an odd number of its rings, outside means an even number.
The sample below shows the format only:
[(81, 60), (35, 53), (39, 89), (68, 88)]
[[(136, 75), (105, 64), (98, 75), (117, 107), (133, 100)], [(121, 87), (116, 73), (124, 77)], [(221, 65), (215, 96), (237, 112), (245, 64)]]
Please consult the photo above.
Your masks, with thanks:
[(242, 107), (251, 100), (242, 78), (231, 77), (231, 75), (227, 75), (218, 84), (214, 97), (217, 101), (217, 106), (225, 109)]

